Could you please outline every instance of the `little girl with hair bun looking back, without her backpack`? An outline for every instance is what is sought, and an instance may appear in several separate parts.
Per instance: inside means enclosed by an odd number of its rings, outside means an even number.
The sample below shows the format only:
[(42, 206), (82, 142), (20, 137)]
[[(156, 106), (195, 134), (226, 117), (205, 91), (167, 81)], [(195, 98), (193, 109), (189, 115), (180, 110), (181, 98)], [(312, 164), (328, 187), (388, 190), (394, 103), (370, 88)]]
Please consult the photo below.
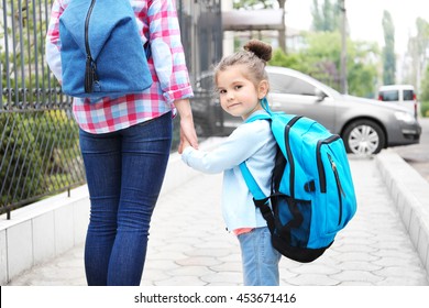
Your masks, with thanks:
[[(224, 57), (215, 68), (215, 84), (222, 109), (243, 121), (266, 112), (261, 103), (268, 92), (266, 62), (272, 47), (252, 40), (244, 51)], [(270, 122), (244, 122), (215, 151), (202, 152), (185, 144), (183, 161), (204, 173), (223, 172), (222, 211), (229, 231), (238, 235), (244, 285), (278, 285), (280, 254), (271, 243), (266, 221), (256, 209), (239, 165), (246, 162), (263, 193), (271, 193), (276, 142)]]

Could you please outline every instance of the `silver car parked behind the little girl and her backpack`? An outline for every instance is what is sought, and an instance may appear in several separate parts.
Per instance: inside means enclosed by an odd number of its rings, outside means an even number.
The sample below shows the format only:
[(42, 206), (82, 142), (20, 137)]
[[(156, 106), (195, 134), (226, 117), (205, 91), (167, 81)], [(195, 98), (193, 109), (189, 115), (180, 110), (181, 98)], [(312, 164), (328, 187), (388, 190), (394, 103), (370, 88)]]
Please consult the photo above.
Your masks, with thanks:
[[(341, 135), (349, 153), (376, 154), (388, 146), (419, 143), (421, 127), (404, 107), (341, 95), (294, 69), (267, 66), (266, 70), (272, 110), (315, 119)], [(201, 136), (228, 135), (242, 122), (221, 109), (212, 78), (212, 73), (201, 75), (191, 101)]]

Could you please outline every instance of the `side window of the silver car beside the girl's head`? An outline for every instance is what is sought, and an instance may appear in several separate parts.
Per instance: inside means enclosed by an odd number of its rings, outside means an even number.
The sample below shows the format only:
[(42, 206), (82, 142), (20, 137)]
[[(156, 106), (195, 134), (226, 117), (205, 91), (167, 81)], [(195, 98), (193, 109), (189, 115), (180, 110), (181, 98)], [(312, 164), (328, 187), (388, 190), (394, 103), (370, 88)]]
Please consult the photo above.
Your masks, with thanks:
[(270, 74), (270, 91), (273, 94), (289, 94), (315, 96), (316, 87), (307, 81), (283, 74)]

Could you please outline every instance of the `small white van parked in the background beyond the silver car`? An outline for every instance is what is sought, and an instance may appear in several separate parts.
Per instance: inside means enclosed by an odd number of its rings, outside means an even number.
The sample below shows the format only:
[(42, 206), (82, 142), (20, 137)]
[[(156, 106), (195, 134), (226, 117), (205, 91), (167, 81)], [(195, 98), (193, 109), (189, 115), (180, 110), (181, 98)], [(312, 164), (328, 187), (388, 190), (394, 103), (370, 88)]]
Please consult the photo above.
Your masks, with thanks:
[(378, 89), (378, 100), (398, 103), (418, 116), (417, 96), (411, 85), (389, 85)]

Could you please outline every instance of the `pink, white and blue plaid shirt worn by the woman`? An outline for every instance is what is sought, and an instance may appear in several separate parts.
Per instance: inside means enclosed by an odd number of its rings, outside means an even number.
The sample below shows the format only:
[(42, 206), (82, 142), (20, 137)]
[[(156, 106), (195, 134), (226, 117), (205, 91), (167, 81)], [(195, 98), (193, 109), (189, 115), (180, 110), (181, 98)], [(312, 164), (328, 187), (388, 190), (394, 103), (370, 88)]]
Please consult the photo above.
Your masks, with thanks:
[[(73, 0), (54, 0), (46, 34), (46, 61), (62, 80), (59, 16)], [(98, 102), (74, 98), (73, 112), (79, 127), (90, 133), (107, 133), (151, 120), (173, 110), (174, 100), (194, 96), (189, 82), (174, 0), (130, 0), (143, 44), (150, 41), (147, 59), (153, 85), (141, 94)], [(76, 68), (81, 70), (84, 68)]]

